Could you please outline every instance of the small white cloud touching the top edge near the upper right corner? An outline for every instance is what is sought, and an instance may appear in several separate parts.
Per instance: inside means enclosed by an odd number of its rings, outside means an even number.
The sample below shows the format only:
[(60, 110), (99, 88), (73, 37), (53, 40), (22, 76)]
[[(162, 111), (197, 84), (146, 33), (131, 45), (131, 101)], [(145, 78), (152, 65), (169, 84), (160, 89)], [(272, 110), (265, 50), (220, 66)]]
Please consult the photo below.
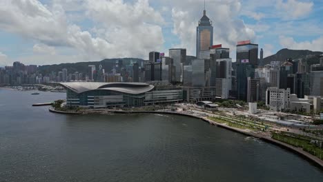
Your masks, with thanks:
[(306, 17), (313, 9), (313, 2), (301, 2), (297, 0), (277, 0), (276, 8), (284, 19), (298, 19)]

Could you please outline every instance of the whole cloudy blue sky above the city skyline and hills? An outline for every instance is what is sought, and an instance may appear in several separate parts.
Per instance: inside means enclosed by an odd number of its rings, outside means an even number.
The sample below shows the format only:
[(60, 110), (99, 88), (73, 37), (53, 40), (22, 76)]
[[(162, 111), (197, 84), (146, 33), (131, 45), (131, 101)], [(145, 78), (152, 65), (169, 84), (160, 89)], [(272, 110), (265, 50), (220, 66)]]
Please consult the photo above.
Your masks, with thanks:
[[(204, 0), (1, 0), (0, 66), (106, 58), (195, 55)], [(206, 0), (213, 44), (250, 39), (264, 56), (282, 48), (323, 51), (322, 0)]]

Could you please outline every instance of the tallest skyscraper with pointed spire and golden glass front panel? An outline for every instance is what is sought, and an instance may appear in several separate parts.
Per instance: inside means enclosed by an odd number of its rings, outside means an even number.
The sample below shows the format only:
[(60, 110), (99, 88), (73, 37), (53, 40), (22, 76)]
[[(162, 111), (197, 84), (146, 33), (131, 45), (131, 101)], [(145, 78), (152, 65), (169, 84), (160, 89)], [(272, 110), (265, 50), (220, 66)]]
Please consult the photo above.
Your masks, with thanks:
[(212, 21), (206, 16), (205, 2), (203, 17), (196, 28), (196, 57), (199, 58), (201, 50), (208, 50), (213, 45)]

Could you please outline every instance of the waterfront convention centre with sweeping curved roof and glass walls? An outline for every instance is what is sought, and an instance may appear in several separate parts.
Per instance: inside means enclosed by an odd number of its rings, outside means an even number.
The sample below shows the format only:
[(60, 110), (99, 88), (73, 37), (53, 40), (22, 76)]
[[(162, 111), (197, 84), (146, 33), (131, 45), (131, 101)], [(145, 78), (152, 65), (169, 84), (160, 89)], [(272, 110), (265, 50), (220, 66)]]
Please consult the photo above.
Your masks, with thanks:
[(131, 108), (183, 101), (181, 88), (155, 89), (147, 83), (60, 83), (66, 88), (66, 105), (84, 108)]

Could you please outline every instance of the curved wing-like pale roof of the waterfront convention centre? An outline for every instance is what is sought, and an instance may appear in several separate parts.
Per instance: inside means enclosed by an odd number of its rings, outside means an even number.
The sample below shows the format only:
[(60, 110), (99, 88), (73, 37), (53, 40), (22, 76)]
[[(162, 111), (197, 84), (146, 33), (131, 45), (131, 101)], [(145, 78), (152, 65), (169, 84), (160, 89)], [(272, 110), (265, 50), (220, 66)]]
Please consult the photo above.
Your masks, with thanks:
[(101, 82), (67, 82), (59, 83), (64, 88), (78, 94), (90, 90), (112, 90), (128, 94), (142, 94), (153, 90), (154, 86), (147, 83), (101, 83)]

